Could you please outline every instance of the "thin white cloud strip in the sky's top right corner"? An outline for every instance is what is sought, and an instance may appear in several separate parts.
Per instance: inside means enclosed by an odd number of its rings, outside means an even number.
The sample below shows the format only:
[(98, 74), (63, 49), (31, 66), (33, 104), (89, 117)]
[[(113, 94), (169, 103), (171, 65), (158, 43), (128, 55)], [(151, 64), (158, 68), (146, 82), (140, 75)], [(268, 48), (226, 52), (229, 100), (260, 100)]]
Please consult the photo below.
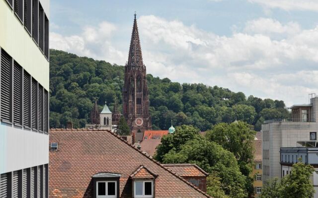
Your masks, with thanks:
[(248, 0), (259, 3), (267, 8), (281, 8), (284, 10), (312, 10), (318, 11), (317, 0)]

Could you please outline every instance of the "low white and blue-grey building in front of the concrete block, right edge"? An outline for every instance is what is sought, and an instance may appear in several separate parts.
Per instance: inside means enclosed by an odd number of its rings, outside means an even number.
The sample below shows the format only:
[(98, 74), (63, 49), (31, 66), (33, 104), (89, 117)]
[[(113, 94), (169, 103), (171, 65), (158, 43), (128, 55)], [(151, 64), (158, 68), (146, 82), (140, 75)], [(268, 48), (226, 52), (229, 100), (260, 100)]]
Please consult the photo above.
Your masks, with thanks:
[[(314, 132), (312, 132), (314, 133)], [(316, 138), (315, 134), (312, 134)], [(280, 164), (281, 164), (281, 177), (291, 174), (292, 165), (297, 163), (299, 159), (306, 164), (311, 164), (315, 171), (311, 178), (315, 194), (314, 198), (318, 198), (318, 148), (317, 141), (301, 141), (298, 143), (299, 147), (289, 147), (280, 149)], [(309, 146), (309, 147), (303, 147)]]

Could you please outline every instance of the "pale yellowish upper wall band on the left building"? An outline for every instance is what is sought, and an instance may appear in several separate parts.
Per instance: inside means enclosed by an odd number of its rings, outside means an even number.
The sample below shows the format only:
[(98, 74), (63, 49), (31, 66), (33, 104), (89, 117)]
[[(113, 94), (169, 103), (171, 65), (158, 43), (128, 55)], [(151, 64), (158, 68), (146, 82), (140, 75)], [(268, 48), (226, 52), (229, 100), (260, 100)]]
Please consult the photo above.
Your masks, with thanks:
[[(49, 0), (41, 0), (41, 3), (49, 4)], [(44, 11), (47, 12), (47, 8)], [(49, 61), (6, 0), (0, 0), (0, 47), (49, 91)]]

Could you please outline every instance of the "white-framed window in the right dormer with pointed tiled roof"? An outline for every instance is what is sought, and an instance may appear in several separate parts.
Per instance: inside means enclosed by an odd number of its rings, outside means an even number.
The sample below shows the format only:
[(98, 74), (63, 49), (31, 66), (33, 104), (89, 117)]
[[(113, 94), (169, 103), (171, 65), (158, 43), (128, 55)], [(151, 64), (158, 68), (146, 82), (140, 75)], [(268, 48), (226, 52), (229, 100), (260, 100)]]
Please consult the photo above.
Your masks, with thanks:
[(135, 198), (153, 198), (154, 197), (154, 181), (134, 181), (134, 197)]

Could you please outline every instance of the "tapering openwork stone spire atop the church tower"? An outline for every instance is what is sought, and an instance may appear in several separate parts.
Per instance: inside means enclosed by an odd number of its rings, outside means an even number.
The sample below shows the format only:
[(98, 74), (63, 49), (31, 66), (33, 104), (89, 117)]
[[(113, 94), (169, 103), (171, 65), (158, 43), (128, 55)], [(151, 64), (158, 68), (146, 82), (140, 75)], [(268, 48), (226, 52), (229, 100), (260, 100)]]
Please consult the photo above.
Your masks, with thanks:
[(130, 41), (128, 63), (126, 66), (128, 67), (129, 70), (130, 69), (140, 70), (140, 69), (144, 69), (145, 66), (143, 63), (143, 56), (142, 56), (141, 47), (140, 47), (136, 13), (134, 15), (135, 15), (134, 26), (133, 26), (133, 32), (132, 32), (131, 41)]

